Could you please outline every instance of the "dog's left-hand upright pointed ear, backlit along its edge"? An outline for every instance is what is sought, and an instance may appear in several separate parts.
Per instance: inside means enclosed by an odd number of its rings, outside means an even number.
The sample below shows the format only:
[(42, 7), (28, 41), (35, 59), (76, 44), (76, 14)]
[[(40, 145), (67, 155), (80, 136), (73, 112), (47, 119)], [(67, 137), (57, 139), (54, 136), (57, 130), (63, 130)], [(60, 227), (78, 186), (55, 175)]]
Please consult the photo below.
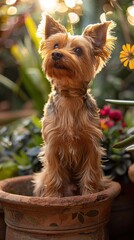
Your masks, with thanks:
[(47, 39), (56, 33), (66, 33), (66, 29), (63, 25), (55, 21), (52, 17), (46, 14), (42, 14), (42, 20), (38, 26), (37, 35), (42, 39)]

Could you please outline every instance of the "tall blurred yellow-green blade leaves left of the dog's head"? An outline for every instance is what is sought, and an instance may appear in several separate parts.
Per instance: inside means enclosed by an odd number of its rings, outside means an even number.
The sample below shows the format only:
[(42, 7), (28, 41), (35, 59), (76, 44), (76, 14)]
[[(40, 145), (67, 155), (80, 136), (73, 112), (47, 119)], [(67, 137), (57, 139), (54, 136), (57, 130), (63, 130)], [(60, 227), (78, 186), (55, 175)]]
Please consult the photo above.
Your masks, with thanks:
[(41, 69), (42, 60), (38, 53), (37, 29), (29, 15), (25, 17), (25, 26), (29, 35), (25, 36), (24, 43), (19, 41), (16, 45), (13, 45), (11, 53), (19, 63), (22, 84), (33, 100), (35, 108), (41, 112), (44, 102), (48, 98), (50, 85)]

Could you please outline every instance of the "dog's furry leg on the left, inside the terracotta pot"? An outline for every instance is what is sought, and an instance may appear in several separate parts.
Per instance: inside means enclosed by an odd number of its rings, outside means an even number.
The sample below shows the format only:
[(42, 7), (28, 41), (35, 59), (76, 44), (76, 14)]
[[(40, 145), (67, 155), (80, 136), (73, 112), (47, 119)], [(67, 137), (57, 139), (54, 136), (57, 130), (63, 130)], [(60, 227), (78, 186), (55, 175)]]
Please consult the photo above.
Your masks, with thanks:
[(35, 195), (42, 197), (63, 197), (64, 171), (60, 159), (54, 147), (45, 146), (42, 172), (37, 173), (34, 178)]

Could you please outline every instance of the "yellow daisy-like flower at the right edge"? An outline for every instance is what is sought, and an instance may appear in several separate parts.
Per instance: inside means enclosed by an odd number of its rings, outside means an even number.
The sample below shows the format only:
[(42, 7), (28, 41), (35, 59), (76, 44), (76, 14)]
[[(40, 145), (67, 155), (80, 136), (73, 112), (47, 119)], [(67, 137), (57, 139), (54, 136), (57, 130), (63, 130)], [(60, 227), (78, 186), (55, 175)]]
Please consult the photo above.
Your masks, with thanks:
[(134, 69), (134, 45), (126, 44), (122, 46), (123, 51), (120, 52), (120, 61), (124, 67), (129, 66), (130, 69)]

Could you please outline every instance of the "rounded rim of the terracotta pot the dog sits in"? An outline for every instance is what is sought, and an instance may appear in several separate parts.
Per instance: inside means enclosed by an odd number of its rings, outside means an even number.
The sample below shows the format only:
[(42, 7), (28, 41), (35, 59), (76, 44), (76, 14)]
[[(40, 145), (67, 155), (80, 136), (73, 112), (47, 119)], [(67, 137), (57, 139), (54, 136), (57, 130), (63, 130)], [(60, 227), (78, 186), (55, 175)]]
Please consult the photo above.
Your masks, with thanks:
[(107, 189), (102, 190), (97, 193), (92, 193), (82, 196), (71, 196), (71, 197), (36, 197), (36, 196), (25, 196), (19, 194), (13, 194), (6, 192), (4, 189), (9, 184), (19, 184), (22, 181), (29, 180), (32, 181), (33, 175), (18, 176), (14, 178), (9, 178), (0, 181), (0, 203), (12, 203), (16, 205), (31, 205), (37, 207), (47, 207), (47, 206), (75, 206), (81, 204), (94, 204), (95, 202), (102, 202), (107, 200), (113, 200), (121, 191), (121, 186), (119, 183), (111, 181)]

